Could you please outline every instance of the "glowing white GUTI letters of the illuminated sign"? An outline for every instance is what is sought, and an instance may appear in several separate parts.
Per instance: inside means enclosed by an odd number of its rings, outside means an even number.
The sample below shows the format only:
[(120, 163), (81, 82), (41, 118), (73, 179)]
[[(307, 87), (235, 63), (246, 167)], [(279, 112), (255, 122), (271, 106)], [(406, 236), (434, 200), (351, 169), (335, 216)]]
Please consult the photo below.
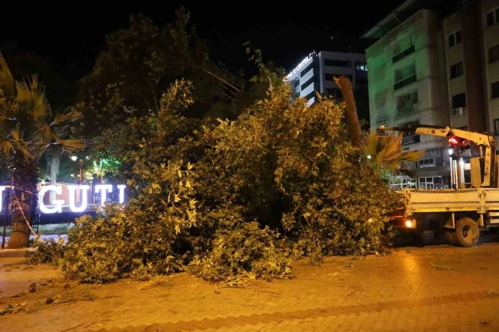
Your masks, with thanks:
[[(125, 185), (118, 185), (118, 191), (120, 192), (120, 204), (124, 203), (124, 189)], [(100, 193), (100, 206), (104, 206), (107, 200), (107, 193), (113, 192), (112, 185), (96, 185), (95, 193)], [(84, 212), (87, 210), (89, 204), (88, 195), (88, 185), (68, 185), (69, 190), (69, 210), (73, 212)], [(57, 195), (63, 194), (63, 186), (47, 185), (41, 188), (38, 193), (38, 201), (40, 204), (40, 211), (42, 213), (61, 213), (63, 212), (63, 205), (65, 200), (52, 200), (52, 202), (43, 202), (45, 194), (47, 191), (55, 191)], [(3, 209), (3, 191), (5, 191), (5, 186), (0, 186), (0, 211)], [(77, 194), (79, 193), (79, 195)], [(79, 196), (78, 203), (76, 206), (76, 196)], [(49, 207), (50, 206), (50, 207)]]

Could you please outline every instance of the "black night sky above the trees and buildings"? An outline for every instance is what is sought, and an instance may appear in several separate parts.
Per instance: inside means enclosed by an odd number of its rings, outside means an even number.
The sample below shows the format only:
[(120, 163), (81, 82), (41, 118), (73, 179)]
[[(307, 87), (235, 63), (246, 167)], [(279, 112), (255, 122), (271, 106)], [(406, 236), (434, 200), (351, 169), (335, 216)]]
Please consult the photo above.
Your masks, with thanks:
[[(236, 1), (232, 5), (189, 5), (199, 34), (208, 40), (211, 58), (236, 71), (247, 64), (242, 44), (250, 40), (262, 49), (264, 60), (274, 60), (286, 71), (293, 69), (310, 51), (342, 51), (344, 43), (334, 40), (356, 39), (383, 19), (401, 1), (385, 0), (365, 5), (359, 1), (328, 1), (327, 5), (311, 2), (306, 6), (271, 7)], [(236, 5), (238, 4), (238, 5)], [(115, 29), (128, 26), (129, 14), (142, 13), (163, 26), (174, 19), (179, 5), (165, 1), (144, 5), (109, 5), (110, 9), (92, 5), (73, 8), (68, 5), (25, 10), (12, 6), (10, 21), (1, 20), (1, 45), (16, 43), (17, 51), (33, 51), (50, 60), (69, 81), (89, 73), (104, 37)], [(16, 8), (17, 7), (17, 8)], [(23, 10), (24, 9), (24, 10)], [(22, 20), (15, 22), (15, 14)], [(365, 16), (365, 17), (364, 17)], [(331, 36), (335, 36), (333, 42)], [(355, 47), (355, 46), (354, 46)], [(4, 54), (8, 52), (3, 49)]]

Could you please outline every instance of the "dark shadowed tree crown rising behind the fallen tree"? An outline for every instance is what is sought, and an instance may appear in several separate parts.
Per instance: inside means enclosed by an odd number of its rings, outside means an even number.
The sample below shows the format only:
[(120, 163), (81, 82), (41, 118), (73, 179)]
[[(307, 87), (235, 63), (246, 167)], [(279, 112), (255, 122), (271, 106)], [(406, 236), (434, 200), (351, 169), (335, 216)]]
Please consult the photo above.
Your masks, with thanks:
[(107, 36), (92, 73), (81, 82), (78, 109), (87, 126), (80, 129), (87, 136), (98, 136), (131, 116), (158, 112), (162, 93), (181, 78), (195, 86), (197, 104), (188, 110), (190, 115), (200, 117), (210, 109), (231, 115), (241, 78), (210, 60), (185, 8), (175, 14), (175, 21), (163, 28), (146, 16), (131, 15), (129, 29)]

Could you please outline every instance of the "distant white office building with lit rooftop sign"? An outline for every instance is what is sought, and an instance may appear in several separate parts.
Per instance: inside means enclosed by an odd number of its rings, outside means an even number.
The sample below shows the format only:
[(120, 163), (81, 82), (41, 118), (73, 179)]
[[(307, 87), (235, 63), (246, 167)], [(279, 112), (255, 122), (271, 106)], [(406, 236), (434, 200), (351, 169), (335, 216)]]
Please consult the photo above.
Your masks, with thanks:
[(320, 51), (311, 52), (288, 75), (287, 80), (296, 97), (304, 97), (311, 105), (317, 101), (315, 91), (321, 95), (332, 95), (340, 100), (340, 87), (333, 78), (346, 75), (354, 91), (367, 88), (367, 64), (364, 54)]

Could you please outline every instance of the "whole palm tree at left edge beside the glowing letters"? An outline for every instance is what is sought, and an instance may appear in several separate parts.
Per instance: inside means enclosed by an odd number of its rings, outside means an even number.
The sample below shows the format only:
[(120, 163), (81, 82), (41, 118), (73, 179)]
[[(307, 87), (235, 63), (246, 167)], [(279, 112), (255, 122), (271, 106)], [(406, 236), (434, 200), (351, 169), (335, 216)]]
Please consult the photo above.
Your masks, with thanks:
[(36, 75), (28, 82), (14, 80), (0, 54), (0, 165), (8, 168), (12, 186), (8, 248), (27, 246), (41, 156), (54, 151), (76, 152), (85, 147), (82, 139), (69, 138), (69, 123), (80, 117), (80, 112), (74, 110), (52, 115)]

